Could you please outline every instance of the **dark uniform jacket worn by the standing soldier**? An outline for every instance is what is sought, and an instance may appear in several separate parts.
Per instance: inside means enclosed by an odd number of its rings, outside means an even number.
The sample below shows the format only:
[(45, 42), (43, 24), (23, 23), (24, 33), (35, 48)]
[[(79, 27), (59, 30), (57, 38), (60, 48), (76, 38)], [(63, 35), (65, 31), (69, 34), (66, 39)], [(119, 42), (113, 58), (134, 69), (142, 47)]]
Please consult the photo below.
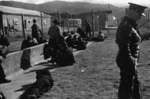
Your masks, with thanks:
[(116, 43), (119, 47), (117, 61), (124, 65), (134, 66), (135, 60), (139, 57), (138, 44), (140, 42), (137, 23), (125, 16), (116, 32)]

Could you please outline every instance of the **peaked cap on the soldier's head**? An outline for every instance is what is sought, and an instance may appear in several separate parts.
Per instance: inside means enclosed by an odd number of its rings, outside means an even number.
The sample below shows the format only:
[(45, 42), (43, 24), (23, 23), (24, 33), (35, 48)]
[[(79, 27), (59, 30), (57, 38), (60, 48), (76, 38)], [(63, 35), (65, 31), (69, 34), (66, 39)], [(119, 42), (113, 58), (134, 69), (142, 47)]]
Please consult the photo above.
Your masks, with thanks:
[(147, 8), (146, 6), (138, 5), (138, 4), (131, 3), (131, 2), (129, 2), (129, 4), (130, 4), (129, 9), (132, 9), (138, 13), (141, 13), (143, 16), (145, 16), (143, 12)]

